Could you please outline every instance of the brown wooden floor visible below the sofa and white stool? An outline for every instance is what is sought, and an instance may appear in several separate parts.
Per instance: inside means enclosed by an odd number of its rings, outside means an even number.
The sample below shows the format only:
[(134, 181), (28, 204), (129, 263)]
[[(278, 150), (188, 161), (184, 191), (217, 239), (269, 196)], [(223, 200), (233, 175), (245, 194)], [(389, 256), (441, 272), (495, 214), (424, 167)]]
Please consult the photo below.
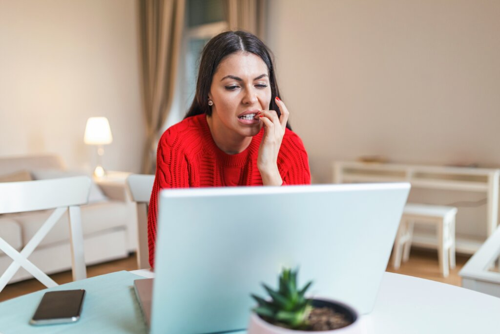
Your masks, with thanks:
[[(439, 272), (437, 263), (437, 252), (431, 250), (411, 250), (408, 262), (402, 263), (398, 270), (394, 270), (390, 261), (387, 266), (387, 271), (396, 272), (399, 274), (416, 276), (426, 279), (431, 279), (447, 284), (460, 286), (461, 278), (458, 276), (458, 271), (463, 267), (469, 256), (456, 256), (456, 268), (451, 269), (449, 276), (444, 278)], [(93, 277), (109, 272), (119, 270), (135, 270), (137, 269), (135, 254), (130, 255), (125, 259), (96, 264), (87, 267), (87, 276)], [(71, 271), (60, 272), (50, 275), (50, 277), (58, 284), (68, 283), (71, 281)], [(13, 297), (17, 297), (26, 293), (34, 292), (45, 288), (43, 284), (35, 279), (29, 279), (22, 282), (8, 284), (3, 291), (0, 292), (0, 301), (4, 301)]]

